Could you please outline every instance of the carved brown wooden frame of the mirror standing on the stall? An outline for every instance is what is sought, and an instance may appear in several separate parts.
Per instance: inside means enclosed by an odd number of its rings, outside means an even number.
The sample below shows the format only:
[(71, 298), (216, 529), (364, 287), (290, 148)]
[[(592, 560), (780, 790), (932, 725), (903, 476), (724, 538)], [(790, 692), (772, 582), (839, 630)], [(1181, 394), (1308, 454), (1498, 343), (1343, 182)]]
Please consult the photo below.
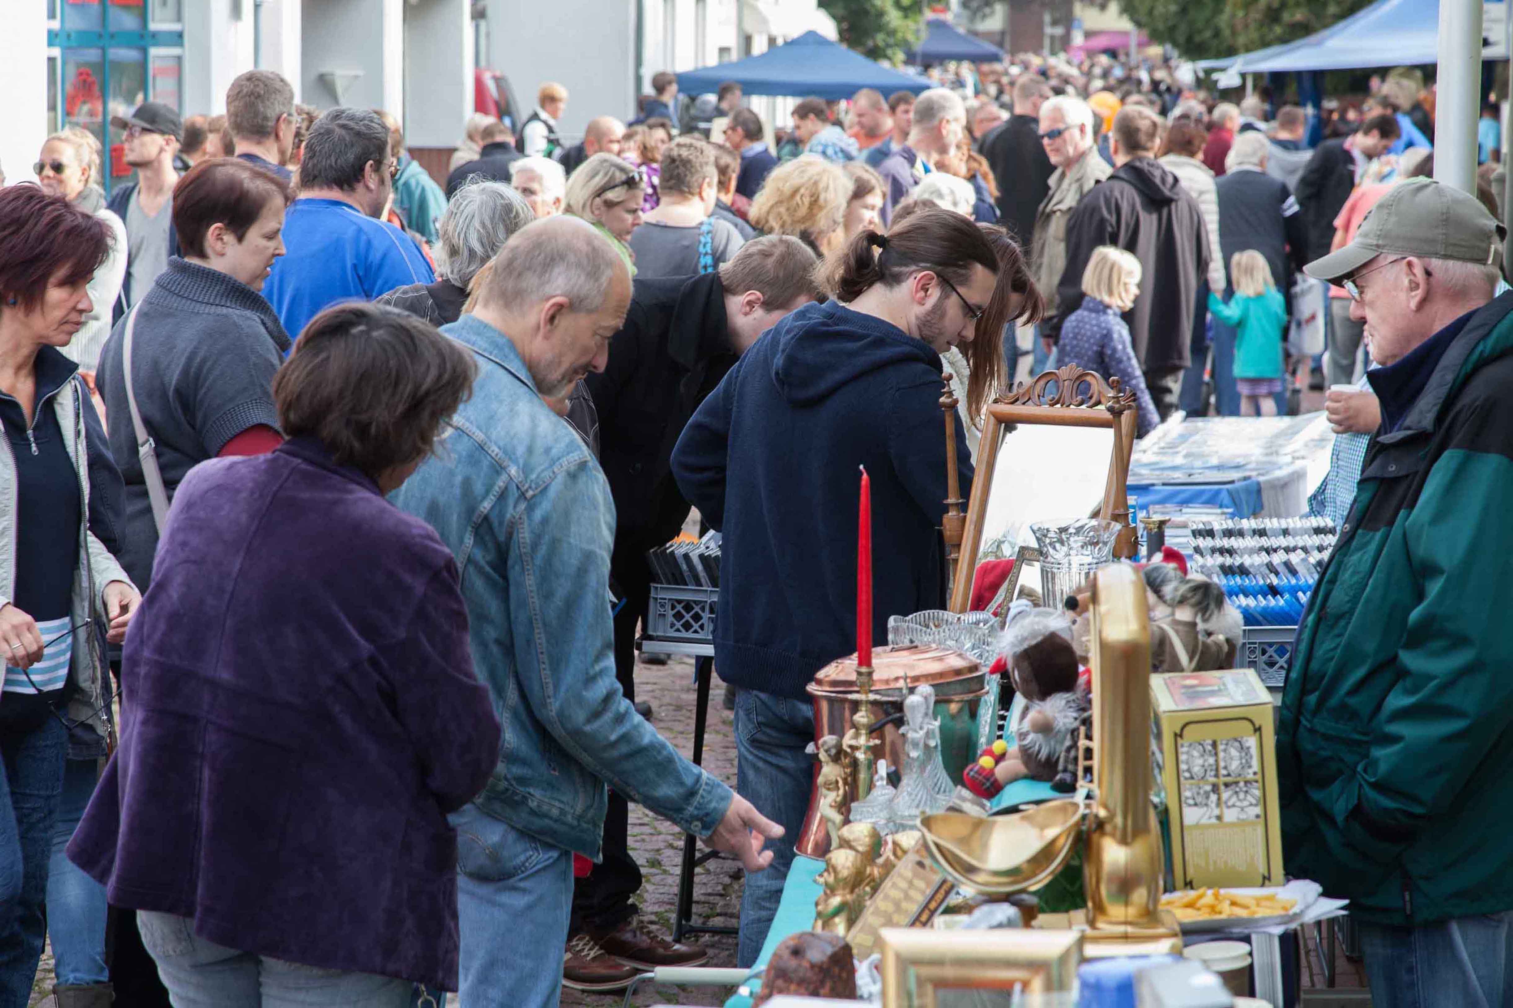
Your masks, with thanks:
[[(1052, 382), (1056, 393), (1047, 394)], [(1000, 396), (988, 404), (982, 425), (982, 441), (977, 447), (977, 472), (971, 481), (971, 497), (967, 502), (967, 523), (961, 540), (961, 559), (952, 583), (952, 612), (967, 612), (971, 601), (973, 574), (977, 571), (977, 552), (982, 549), (982, 527), (988, 514), (988, 496), (993, 490), (993, 472), (999, 461), (1003, 438), (1020, 423), (1108, 428), (1114, 432), (1114, 450), (1109, 456), (1109, 476), (1103, 490), (1103, 503), (1094, 517), (1118, 521), (1133, 532), (1129, 514), (1126, 482), (1130, 472), (1130, 455), (1135, 450), (1135, 394), (1120, 388), (1120, 381), (1104, 382), (1101, 376), (1070, 364), (1045, 372), (1032, 382), (1023, 384), (1009, 396)], [(1047, 473), (1053, 478), (1055, 473)], [(1135, 556), (1135, 536), (1120, 533), (1114, 555), (1121, 559)]]

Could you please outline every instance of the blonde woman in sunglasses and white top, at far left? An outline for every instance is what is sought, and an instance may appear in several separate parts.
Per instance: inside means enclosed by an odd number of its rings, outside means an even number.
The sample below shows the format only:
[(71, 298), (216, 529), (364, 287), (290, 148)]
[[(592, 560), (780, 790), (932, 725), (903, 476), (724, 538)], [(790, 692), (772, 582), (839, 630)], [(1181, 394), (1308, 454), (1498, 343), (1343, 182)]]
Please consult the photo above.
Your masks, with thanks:
[(126, 224), (112, 213), (100, 190), (100, 141), (77, 125), (53, 133), (32, 165), (36, 184), (50, 196), (62, 196), (110, 228), (110, 251), (89, 277), (86, 292), (91, 308), (64, 357), (79, 363), (85, 382), (94, 390), (100, 348), (110, 335), (110, 310), (126, 280)]

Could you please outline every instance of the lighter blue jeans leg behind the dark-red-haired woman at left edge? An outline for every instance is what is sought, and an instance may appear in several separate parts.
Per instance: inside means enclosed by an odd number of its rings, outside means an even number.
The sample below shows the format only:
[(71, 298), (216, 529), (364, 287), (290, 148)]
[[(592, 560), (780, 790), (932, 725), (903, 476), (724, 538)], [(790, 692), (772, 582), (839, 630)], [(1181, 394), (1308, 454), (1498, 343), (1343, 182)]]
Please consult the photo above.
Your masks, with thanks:
[(53, 970), (59, 987), (104, 984), (104, 920), (109, 907), (104, 886), (68, 860), (68, 846), (100, 778), (100, 760), (68, 760), (64, 793), (53, 827), (53, 860), (47, 873), (47, 937), (53, 942)]

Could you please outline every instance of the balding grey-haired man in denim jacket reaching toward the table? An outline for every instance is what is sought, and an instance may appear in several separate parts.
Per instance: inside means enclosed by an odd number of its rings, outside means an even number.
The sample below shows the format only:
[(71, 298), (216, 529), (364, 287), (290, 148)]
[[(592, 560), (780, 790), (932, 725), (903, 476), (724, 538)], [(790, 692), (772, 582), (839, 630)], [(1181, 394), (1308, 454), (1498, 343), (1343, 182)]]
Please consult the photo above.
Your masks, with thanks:
[(602, 370), (631, 278), (573, 218), (527, 225), (472, 314), (443, 326), (478, 361), (436, 458), (395, 491), (457, 555), (474, 665), (504, 722), (499, 766), (457, 827), (463, 1008), (557, 1005), (572, 852), (598, 860), (605, 784), (740, 855), (782, 828), (684, 760), (614, 679), (614, 506), (599, 464), (543, 399)]

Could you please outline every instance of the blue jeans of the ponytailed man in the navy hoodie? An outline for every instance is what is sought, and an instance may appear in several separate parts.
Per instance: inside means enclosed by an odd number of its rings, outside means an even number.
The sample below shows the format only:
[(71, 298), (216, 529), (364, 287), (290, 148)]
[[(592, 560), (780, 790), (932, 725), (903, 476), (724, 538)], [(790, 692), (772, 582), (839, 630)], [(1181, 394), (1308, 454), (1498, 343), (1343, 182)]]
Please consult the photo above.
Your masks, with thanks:
[(735, 955), (741, 967), (756, 963), (793, 866), (793, 845), (803, 830), (814, 784), (814, 757), (803, 751), (809, 742), (814, 742), (814, 704), (735, 691), (735, 792), (784, 828), (781, 840), (767, 842), (773, 852), (767, 870), (746, 873)]

